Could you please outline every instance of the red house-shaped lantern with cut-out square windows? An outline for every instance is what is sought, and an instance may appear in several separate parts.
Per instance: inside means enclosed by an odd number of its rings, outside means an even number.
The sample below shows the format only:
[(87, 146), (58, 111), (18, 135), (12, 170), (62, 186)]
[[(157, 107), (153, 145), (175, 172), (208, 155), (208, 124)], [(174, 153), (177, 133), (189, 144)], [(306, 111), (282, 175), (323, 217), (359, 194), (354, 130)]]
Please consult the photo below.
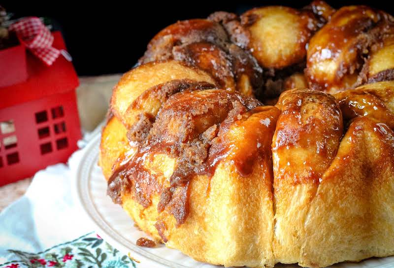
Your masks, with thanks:
[[(53, 35), (53, 47), (66, 49)], [(26, 62), (26, 81), (0, 87), (0, 186), (66, 162), (81, 138), (72, 63), (59, 56), (47, 67), (30, 53)]]

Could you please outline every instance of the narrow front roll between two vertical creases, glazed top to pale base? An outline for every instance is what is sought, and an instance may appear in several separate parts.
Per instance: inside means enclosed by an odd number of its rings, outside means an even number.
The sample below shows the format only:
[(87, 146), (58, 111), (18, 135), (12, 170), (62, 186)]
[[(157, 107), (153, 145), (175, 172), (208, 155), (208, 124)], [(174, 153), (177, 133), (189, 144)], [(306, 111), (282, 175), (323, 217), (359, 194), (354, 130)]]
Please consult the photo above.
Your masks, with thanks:
[[(281, 263), (300, 262), (305, 218), (324, 172), (343, 134), (342, 114), (334, 97), (312, 90), (284, 92), (272, 141), (275, 194), (273, 250)], [(311, 241), (312, 242), (312, 241)]]

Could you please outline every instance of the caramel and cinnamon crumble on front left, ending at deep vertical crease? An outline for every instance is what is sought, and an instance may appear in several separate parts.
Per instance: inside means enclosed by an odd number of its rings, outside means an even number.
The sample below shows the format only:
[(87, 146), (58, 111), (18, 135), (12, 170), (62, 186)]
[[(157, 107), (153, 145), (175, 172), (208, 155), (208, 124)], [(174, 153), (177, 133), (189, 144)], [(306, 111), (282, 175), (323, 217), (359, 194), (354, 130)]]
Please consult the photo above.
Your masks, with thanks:
[[(204, 93), (201, 96), (201, 92), (209, 91), (212, 92)], [(168, 133), (168, 131), (173, 130), (163, 129), (163, 126), (160, 126), (163, 122), (160, 121), (164, 120), (163, 125), (168, 128), (168, 122), (163, 117), (166, 113), (174, 116), (174, 111), (171, 111), (171, 108), (166, 110), (166, 107), (176, 107), (173, 108), (175, 111), (184, 112), (189, 110), (190, 106), (198, 106), (212, 96), (215, 96), (215, 98), (220, 96), (219, 100), (213, 102), (219, 102), (222, 111), (215, 110), (217, 109), (215, 106), (210, 108), (209, 105), (207, 106), (208, 111), (205, 106), (201, 106), (201, 111), (197, 109), (196, 116), (193, 118), (194, 121), (198, 122), (198, 116), (204, 117), (204, 120), (209, 117), (211, 119), (208, 123), (213, 124), (210, 127), (208, 124), (201, 129), (201, 125), (206, 124), (196, 123), (197, 131), (194, 129), (192, 133), (187, 133), (194, 139), (190, 137), (186, 139), (188, 145), (197, 144), (195, 147), (191, 147), (192, 153), (200, 154), (201, 150), (206, 150), (206, 154), (202, 154), (201, 159), (197, 159), (196, 162), (185, 162), (185, 155), (182, 155), (184, 152), (181, 150), (186, 148), (185, 151), (187, 151), (190, 148), (188, 149), (184, 145), (185, 140), (182, 140), (182, 146), (176, 144), (179, 140), (170, 141), (171, 138), (168, 138), (168, 136), (171, 133)], [(185, 105), (182, 107), (181, 104)], [(223, 114), (224, 112), (225, 114)], [(222, 115), (220, 115), (221, 113)], [(261, 158), (271, 161), (270, 146), (279, 113), (280, 111), (276, 107), (261, 107), (261, 103), (255, 99), (237, 93), (229, 93), (225, 90), (197, 90), (177, 93), (171, 96), (158, 114), (155, 122), (158, 127), (156, 129), (152, 127), (150, 137), (138, 144), (137, 152), (131, 160), (120, 165), (110, 177), (107, 193), (115, 203), (122, 204), (121, 193), (133, 191), (135, 200), (144, 208), (147, 208), (151, 205), (151, 195), (161, 192), (158, 212), (163, 212), (166, 209), (174, 216), (179, 226), (185, 222), (188, 215), (188, 186), (195, 175), (212, 177), (218, 164), (227, 157), (230, 157), (231, 162), (242, 177), (249, 176), (252, 173), (254, 163)], [(161, 119), (158, 119), (159, 117)], [(175, 121), (179, 121), (176, 116)], [(229, 134), (229, 130), (234, 128), (242, 130), (242, 139)], [(155, 132), (159, 132), (160, 135), (152, 135)], [(178, 132), (175, 133), (179, 135)], [(183, 135), (185, 134), (180, 134), (180, 136)], [(266, 152), (269, 152), (269, 154)], [(158, 175), (152, 174), (144, 167), (144, 162), (158, 153), (172, 155), (177, 160), (175, 170), (169, 179), (170, 187), (164, 189), (160, 189), (157, 183)], [(189, 154), (186, 153), (186, 157), (188, 156)]]

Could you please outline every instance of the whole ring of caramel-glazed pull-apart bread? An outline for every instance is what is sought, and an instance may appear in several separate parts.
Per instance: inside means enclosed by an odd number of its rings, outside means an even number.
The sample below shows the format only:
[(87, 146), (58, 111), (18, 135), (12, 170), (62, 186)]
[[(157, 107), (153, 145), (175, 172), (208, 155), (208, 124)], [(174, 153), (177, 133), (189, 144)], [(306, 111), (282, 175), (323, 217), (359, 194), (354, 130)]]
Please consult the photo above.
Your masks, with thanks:
[(99, 155), (109, 196), (156, 241), (215, 265), (394, 255), (391, 20), (314, 1), (165, 28), (113, 91)]

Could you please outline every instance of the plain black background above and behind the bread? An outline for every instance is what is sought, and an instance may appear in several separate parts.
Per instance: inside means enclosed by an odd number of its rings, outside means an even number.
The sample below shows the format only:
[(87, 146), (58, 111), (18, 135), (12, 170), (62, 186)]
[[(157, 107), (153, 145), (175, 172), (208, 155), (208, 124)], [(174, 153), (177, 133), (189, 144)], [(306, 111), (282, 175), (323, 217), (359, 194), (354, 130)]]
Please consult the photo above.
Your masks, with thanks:
[[(241, 14), (264, 5), (303, 7), (310, 1), (104, 1), (83, 4), (67, 1), (5, 1), (0, 5), (15, 17), (39, 16), (53, 19), (66, 40), (78, 75), (123, 73), (144, 53), (149, 40), (162, 28), (177, 20), (205, 18), (225, 10)], [(390, 1), (328, 1), (338, 8), (350, 4), (366, 4), (394, 14)]]

